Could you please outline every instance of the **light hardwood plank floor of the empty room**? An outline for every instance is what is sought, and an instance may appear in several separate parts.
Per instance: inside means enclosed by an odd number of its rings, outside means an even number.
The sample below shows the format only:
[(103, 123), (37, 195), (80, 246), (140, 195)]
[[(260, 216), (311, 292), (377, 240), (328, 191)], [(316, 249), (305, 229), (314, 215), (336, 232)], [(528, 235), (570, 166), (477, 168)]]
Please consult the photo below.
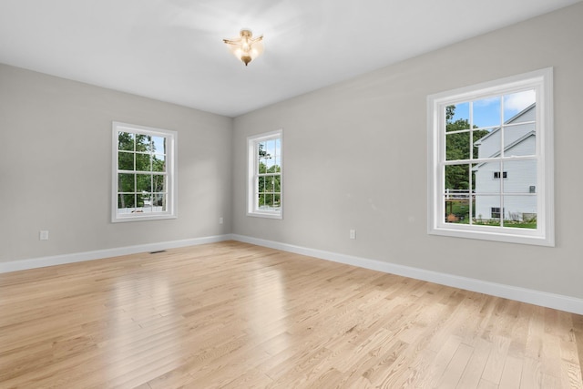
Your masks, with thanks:
[(583, 316), (227, 241), (0, 274), (2, 388), (583, 388)]

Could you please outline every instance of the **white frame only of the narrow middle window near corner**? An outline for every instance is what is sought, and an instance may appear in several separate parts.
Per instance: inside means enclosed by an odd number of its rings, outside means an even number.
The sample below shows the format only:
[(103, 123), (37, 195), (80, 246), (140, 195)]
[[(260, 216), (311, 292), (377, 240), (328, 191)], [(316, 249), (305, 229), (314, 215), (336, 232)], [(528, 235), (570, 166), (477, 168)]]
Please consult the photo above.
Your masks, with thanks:
[[(258, 159), (257, 148), (261, 141), (279, 138), (281, 142), (280, 148), (280, 208), (278, 210), (261, 210), (258, 207), (259, 196), (256, 192), (258, 174)], [(247, 138), (247, 216), (268, 218), (268, 219), (283, 219), (283, 130), (278, 129), (259, 135), (254, 135)]]

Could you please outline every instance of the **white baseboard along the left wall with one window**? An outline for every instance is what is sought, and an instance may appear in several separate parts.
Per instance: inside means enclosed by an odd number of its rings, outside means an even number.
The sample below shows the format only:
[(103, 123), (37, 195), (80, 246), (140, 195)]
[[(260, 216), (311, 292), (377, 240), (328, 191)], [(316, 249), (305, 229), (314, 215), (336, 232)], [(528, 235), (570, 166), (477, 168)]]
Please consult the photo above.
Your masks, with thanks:
[(47, 266), (64, 265), (81, 261), (101, 260), (104, 258), (118, 257), (120, 255), (137, 254), (138, 252), (159, 251), (176, 249), (179, 247), (197, 246), (199, 244), (214, 243), (217, 241), (230, 241), (230, 234), (215, 235), (202, 238), (185, 239), (181, 241), (161, 241), (157, 243), (138, 244), (136, 246), (118, 247), (114, 249), (75, 252), (71, 254), (54, 255), (50, 257), (33, 258), (22, 261), (0, 262), (0, 273), (10, 271), (25, 271), (29, 269), (44, 268)]

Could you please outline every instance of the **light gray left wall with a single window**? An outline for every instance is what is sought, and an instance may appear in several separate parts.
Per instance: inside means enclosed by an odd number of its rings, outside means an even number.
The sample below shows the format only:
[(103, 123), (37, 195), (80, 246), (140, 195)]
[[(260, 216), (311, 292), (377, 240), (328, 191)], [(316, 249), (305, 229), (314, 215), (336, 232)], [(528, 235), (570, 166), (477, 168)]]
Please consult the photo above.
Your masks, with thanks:
[[(112, 120), (178, 131), (178, 219), (110, 222)], [(231, 118), (0, 65), (0, 134), (0, 261), (230, 232)]]

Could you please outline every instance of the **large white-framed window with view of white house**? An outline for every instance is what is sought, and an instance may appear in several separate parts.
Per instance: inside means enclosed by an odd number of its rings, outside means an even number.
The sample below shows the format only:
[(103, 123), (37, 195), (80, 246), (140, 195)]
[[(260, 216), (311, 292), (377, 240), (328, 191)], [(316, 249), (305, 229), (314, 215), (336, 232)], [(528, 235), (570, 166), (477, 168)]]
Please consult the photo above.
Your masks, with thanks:
[(554, 246), (552, 68), (427, 103), (429, 233)]

